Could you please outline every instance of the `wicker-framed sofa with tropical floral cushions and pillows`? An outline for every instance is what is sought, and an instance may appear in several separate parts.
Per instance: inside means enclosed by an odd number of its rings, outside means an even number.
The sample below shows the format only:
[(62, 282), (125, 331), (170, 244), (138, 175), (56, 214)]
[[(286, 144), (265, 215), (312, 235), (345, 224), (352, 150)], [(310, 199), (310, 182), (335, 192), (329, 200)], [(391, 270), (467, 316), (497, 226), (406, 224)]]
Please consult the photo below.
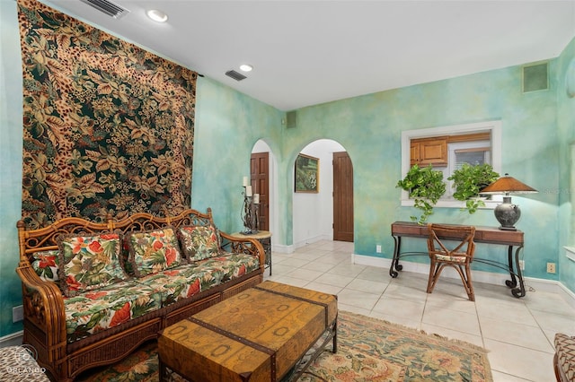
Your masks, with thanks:
[(164, 327), (263, 280), (261, 243), (218, 231), (209, 208), (17, 227), (22, 342), (57, 381), (120, 360)]

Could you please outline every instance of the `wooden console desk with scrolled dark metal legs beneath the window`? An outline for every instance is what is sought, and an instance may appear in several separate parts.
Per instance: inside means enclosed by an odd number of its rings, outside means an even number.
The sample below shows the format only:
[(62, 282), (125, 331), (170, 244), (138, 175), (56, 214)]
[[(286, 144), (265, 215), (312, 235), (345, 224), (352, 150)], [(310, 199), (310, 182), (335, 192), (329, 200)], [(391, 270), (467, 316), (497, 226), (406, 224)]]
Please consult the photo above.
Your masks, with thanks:
[[(457, 225), (457, 224), (452, 224)], [(399, 259), (405, 256), (420, 256), (421, 252), (406, 252), (402, 253), (402, 238), (425, 238), (429, 236), (429, 230), (427, 225), (419, 225), (416, 222), (411, 221), (395, 221), (392, 223), (392, 236), (394, 237), (394, 258), (392, 259), (392, 265), (389, 268), (389, 275), (392, 277), (397, 277), (403, 269), (403, 265), (399, 264)], [(439, 238), (439, 239), (449, 239), (449, 238)], [(505, 284), (511, 288), (511, 293), (513, 296), (519, 298), (526, 294), (525, 284), (523, 282), (523, 275), (521, 274), (521, 267), (519, 266), (519, 252), (523, 248), (523, 231), (521, 230), (499, 230), (496, 227), (475, 227), (475, 239), (476, 243), (487, 243), (487, 244), (500, 244), (502, 246), (508, 246), (508, 262), (507, 264), (498, 261), (481, 258), (478, 256), (473, 256), (473, 261), (477, 263), (487, 264), (496, 266), (500, 269), (504, 269), (509, 272), (511, 280), (506, 280)], [(515, 248), (515, 252), (513, 251)], [(514, 256), (515, 255), (515, 256)], [(517, 287), (518, 282), (518, 287)]]

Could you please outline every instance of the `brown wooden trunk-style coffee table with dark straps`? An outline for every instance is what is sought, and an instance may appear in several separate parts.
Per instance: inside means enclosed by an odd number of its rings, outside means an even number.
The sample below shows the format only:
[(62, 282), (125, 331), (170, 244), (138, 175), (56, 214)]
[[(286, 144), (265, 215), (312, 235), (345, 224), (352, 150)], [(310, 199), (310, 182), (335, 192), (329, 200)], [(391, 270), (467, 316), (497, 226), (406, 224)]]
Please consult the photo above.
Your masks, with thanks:
[[(277, 381), (296, 367), (295, 379), (327, 343), (337, 352), (337, 316), (336, 296), (262, 282), (166, 327), (160, 380), (169, 368), (196, 382)], [(314, 356), (298, 364), (316, 343)]]

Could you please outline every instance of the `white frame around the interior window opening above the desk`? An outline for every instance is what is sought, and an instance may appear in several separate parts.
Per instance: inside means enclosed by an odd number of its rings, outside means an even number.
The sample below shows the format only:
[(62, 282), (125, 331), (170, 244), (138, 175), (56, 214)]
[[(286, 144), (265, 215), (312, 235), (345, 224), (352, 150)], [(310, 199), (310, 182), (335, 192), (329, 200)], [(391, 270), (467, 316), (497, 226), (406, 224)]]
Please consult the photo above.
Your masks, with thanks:
[[(466, 135), (473, 133), (482, 133), (489, 131), (491, 134), (491, 166), (493, 170), (501, 174), (501, 121), (491, 120), (485, 122), (476, 122), (472, 124), (452, 125), (452, 126), (438, 126), (423, 129), (405, 130), (402, 132), (402, 179), (405, 177), (411, 168), (411, 139), (430, 138), (441, 135)], [(446, 187), (448, 187), (447, 178)], [(491, 200), (485, 201), (485, 206), (482, 209), (494, 209), (497, 204), (501, 203), (501, 195), (492, 195)], [(413, 206), (413, 199), (410, 199), (409, 193), (402, 190), (401, 205)], [(464, 208), (465, 202), (456, 199), (439, 199), (436, 207), (447, 208)]]

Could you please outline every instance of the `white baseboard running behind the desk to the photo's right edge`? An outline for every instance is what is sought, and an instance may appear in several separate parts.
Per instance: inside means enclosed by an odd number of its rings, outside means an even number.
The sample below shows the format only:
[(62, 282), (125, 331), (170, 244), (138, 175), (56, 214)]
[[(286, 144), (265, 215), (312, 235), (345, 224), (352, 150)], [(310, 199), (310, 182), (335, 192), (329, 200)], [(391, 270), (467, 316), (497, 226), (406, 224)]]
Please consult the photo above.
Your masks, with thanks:
[[(392, 265), (392, 259), (351, 254), (351, 263), (389, 269), (389, 267)], [(403, 271), (406, 272), (429, 274), (429, 264), (414, 263), (411, 261), (402, 260), (401, 265), (403, 265)], [(446, 277), (459, 278), (459, 275), (456, 273), (456, 271), (449, 268), (447, 268), (444, 273), (442, 273), (442, 275), (445, 275)], [(485, 282), (493, 285), (505, 285), (506, 280), (509, 280), (509, 274), (507, 273), (473, 271), (473, 281), (475, 282)], [(529, 291), (529, 287), (535, 289), (535, 291), (550, 291), (557, 293), (561, 295), (562, 298), (571, 307), (575, 308), (575, 293), (570, 291), (561, 282), (537, 279), (535, 277), (524, 277), (523, 281), (526, 284), (527, 293)]]

